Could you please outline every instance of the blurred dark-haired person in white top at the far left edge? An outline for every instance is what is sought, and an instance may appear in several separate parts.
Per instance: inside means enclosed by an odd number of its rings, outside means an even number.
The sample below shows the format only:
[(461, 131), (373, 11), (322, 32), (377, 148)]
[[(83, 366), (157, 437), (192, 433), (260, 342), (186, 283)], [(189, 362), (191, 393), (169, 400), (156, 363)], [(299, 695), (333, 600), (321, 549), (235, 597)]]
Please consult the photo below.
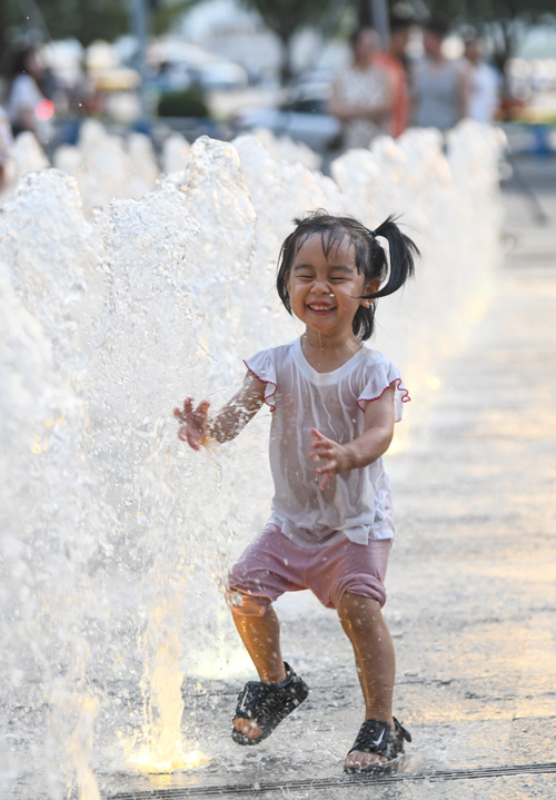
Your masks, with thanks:
[(13, 53), (7, 108), (13, 136), (29, 130), (39, 141), (44, 138), (43, 126), (37, 116), (37, 109), (46, 100), (41, 88), (42, 77), (43, 70), (33, 47), (24, 47)]

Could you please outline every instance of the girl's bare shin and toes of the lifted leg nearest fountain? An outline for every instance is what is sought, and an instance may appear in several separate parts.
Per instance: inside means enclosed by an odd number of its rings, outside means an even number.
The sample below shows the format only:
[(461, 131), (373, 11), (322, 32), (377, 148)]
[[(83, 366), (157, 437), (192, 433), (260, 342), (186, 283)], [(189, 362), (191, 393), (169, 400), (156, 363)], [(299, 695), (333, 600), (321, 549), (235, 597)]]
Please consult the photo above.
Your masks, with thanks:
[[(259, 679), (265, 683), (281, 683), (286, 680), (286, 670), (280, 650), (280, 623), (276, 611), (270, 609), (262, 616), (232, 614), (234, 622)], [(240, 717), (234, 720), (238, 731), (255, 739), (261, 730), (255, 720)]]

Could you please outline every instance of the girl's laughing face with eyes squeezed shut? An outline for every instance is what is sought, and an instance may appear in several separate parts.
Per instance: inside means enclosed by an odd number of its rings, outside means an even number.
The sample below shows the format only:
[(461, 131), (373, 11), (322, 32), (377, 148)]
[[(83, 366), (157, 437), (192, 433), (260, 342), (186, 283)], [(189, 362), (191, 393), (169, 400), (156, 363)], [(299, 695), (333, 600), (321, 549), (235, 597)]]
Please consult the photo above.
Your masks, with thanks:
[(307, 328), (321, 336), (353, 338), (353, 322), (361, 304), (361, 295), (371, 294), (380, 280), (365, 283), (357, 271), (356, 250), (348, 236), (328, 255), (319, 234), (309, 236), (300, 246), (286, 276), (291, 310)]

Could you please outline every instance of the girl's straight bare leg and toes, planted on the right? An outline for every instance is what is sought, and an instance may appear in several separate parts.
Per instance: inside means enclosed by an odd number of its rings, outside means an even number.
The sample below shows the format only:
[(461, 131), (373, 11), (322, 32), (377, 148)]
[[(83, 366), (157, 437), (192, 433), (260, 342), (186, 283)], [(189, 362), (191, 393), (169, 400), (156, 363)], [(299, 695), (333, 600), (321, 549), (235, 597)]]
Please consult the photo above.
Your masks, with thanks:
[[(338, 606), (338, 616), (354, 648), (359, 683), (365, 699), (365, 719), (389, 722), (391, 713), (396, 656), (390, 632), (376, 600), (346, 592)], [(346, 767), (367, 767), (386, 761), (376, 753), (357, 750), (346, 758)]]

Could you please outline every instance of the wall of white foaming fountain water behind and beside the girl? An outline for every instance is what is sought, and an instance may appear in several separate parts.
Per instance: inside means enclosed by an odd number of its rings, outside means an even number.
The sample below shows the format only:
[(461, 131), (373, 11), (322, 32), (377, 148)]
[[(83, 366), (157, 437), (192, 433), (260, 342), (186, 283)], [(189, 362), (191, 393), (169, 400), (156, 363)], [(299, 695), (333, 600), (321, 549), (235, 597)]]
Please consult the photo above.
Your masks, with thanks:
[(36, 158), (12, 187), (0, 214), (0, 788), (95, 800), (99, 776), (131, 769), (122, 742), (169, 752), (169, 769), (186, 740), (196, 748), (180, 685), (226, 679), (241, 652), (219, 582), (268, 513), (268, 412), (196, 454), (172, 407), (187, 395), (218, 406), (244, 357), (299, 333), (272, 282), (291, 218), (317, 207), (371, 227), (404, 215), (424, 258), (380, 300), (374, 344), (425, 398), (496, 269), (498, 147), (466, 124), (445, 157), (435, 131), (408, 131), (341, 156), (328, 178), (255, 137), (201, 138), (187, 162), (175, 140), (183, 169), (155, 180), (148, 144), (89, 127), (59, 151), (66, 171)]

